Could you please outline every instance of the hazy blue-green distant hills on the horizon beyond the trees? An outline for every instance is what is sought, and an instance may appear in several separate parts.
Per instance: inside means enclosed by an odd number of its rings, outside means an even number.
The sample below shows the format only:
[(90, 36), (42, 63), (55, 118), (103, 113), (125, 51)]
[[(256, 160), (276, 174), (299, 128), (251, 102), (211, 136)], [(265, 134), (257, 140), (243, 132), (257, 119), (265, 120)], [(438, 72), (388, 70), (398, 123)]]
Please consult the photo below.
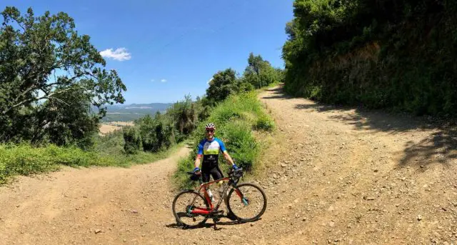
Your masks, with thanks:
[(154, 116), (157, 111), (165, 112), (173, 103), (151, 104), (116, 104), (107, 106), (106, 116), (102, 121), (134, 121), (149, 114)]

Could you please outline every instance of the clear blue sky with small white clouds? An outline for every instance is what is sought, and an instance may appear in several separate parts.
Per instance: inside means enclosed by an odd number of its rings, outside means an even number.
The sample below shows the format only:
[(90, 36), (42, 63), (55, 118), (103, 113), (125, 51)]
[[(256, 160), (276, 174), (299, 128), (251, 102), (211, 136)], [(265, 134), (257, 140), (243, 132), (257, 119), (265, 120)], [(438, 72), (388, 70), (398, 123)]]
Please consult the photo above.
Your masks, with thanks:
[(1, 0), (36, 15), (64, 11), (116, 69), (125, 104), (202, 96), (217, 71), (240, 75), (250, 52), (283, 68), (284, 28), (293, 0)]

